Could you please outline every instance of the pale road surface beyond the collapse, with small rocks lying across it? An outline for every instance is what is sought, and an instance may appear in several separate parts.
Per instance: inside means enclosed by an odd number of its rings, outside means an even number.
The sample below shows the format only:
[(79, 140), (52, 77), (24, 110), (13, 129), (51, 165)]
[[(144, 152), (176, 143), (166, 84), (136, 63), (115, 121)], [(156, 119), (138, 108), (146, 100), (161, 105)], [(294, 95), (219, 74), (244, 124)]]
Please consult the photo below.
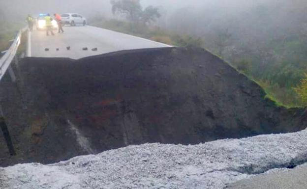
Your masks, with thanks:
[[(111, 31), (108, 29), (77, 26), (63, 27), (64, 33), (46, 36), (46, 31), (33, 30), (28, 44), (28, 56), (69, 57), (79, 59), (86, 56), (105, 54), (121, 50), (171, 47), (148, 39)], [(66, 47), (70, 46), (67, 51)], [(82, 50), (87, 47), (88, 51)], [(45, 51), (48, 48), (49, 51)], [(59, 51), (56, 49), (59, 48)], [(97, 51), (92, 51), (97, 48)]]

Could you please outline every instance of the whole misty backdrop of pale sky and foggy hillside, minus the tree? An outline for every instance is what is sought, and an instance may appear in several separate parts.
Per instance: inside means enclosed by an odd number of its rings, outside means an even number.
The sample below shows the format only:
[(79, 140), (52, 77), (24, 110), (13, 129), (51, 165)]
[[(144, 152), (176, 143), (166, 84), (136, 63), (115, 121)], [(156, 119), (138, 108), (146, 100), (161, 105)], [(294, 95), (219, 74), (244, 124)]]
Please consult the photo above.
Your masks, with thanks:
[[(158, 7), (161, 17), (135, 27), (124, 17), (112, 14), (110, 0), (2, 0), (0, 32), (12, 25), (25, 25), (29, 13), (76, 12), (88, 18), (90, 25), (177, 46), (206, 48), (257, 81), (270, 98), (289, 106), (302, 103), (294, 87), (307, 70), (306, 0), (140, 0), (140, 3), (144, 8)], [(99, 24), (100, 20), (104, 23)]]

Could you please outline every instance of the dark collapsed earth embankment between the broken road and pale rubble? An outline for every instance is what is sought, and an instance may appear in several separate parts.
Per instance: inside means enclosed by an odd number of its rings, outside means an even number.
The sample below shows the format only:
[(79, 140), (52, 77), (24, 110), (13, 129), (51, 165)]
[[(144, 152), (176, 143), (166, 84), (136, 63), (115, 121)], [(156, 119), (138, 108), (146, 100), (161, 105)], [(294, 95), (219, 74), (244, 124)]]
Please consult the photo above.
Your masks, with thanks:
[(1, 91), (17, 156), (0, 145), (0, 166), (307, 127), (303, 109), (276, 107), (255, 82), (202, 49), (25, 58), (18, 67), (19, 87)]

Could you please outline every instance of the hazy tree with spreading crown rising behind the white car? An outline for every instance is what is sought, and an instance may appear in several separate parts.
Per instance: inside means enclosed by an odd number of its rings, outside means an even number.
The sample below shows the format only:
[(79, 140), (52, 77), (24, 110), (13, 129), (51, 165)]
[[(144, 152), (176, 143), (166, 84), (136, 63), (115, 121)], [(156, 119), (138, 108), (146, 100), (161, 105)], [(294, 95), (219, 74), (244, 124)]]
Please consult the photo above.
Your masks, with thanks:
[(111, 0), (111, 4), (113, 14), (122, 14), (132, 22), (147, 24), (161, 17), (158, 7), (148, 6), (143, 10), (140, 0)]

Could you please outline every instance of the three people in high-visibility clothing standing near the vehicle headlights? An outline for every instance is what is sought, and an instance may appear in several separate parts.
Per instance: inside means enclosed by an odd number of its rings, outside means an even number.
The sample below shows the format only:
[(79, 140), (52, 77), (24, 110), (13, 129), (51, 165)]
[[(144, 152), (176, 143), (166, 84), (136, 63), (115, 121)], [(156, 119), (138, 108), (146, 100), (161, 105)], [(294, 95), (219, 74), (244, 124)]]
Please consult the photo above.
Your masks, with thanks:
[[(55, 13), (54, 14), (54, 19), (50, 16), (50, 14), (46, 14), (46, 16), (44, 17), (44, 20), (46, 21), (46, 34), (47, 36), (49, 36), (49, 32), (51, 32), (52, 35), (54, 35), (53, 33), (53, 25), (52, 25), (52, 21), (56, 20), (58, 23), (58, 32), (59, 33), (63, 33), (63, 23), (62, 23), (62, 18), (60, 14)], [(32, 18), (32, 16), (29, 14), (27, 17), (27, 23), (28, 23), (28, 27), (29, 29), (32, 31), (33, 30), (33, 25), (34, 25), (34, 19)]]

